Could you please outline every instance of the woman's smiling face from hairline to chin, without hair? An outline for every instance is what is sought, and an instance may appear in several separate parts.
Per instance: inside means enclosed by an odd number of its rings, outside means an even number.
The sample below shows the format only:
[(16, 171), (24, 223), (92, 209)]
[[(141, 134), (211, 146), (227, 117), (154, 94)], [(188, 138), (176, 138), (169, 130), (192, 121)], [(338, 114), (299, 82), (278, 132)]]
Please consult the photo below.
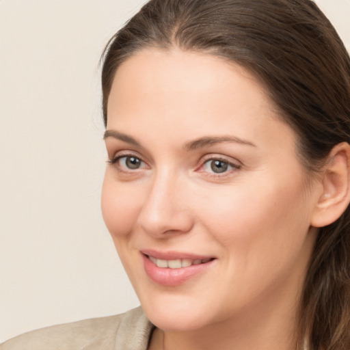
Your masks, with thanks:
[(148, 49), (118, 68), (107, 114), (103, 217), (150, 321), (290, 314), (317, 184), (262, 85), (217, 57)]

